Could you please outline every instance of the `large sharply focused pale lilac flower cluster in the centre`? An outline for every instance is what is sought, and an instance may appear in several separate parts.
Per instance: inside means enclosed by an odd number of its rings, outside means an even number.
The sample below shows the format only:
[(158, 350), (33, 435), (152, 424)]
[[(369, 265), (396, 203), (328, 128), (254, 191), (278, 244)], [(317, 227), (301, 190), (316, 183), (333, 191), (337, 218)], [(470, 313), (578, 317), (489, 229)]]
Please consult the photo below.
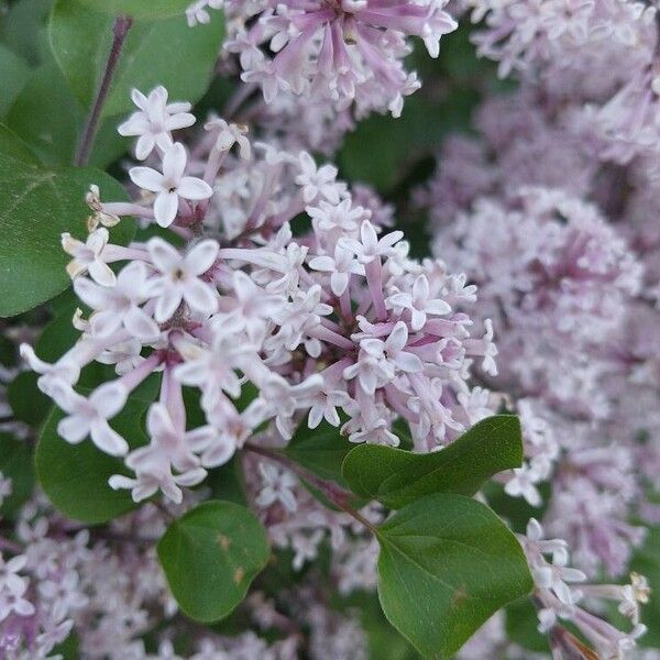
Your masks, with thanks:
[[(464, 276), (410, 260), (402, 232), (383, 231), (374, 223), (383, 215), (358, 205), (337, 169), (305, 152), (253, 150), (243, 129), (212, 120), (208, 153), (188, 162), (167, 128), (189, 123), (187, 107), (166, 99), (162, 89), (135, 92), (140, 110), (121, 127), (140, 134), (138, 155), (155, 162), (129, 170), (139, 201), (101, 202), (95, 189), (86, 241), (63, 235), (74, 290), (91, 310), (74, 319), (79, 341), (53, 364), (21, 349), (66, 413), (59, 435), (125, 457), (131, 476), (113, 476), (112, 487), (131, 488), (135, 501), (161, 490), (180, 502), (182, 487), (199, 484), (270, 419), (286, 440), (300, 417), (310, 428), (339, 426), (341, 411), (350, 441), (396, 444), (391, 427), (400, 416), (429, 451), (487, 413), (487, 393), (466, 378), (475, 359), (495, 374), (496, 349), (491, 326), (473, 338), (459, 311), (475, 299)], [(173, 238), (113, 244), (107, 227), (127, 215)], [(294, 237), (300, 215), (307, 227)], [(114, 364), (119, 377), (76, 392), (95, 360)], [(111, 420), (154, 373), (150, 442), (131, 450)], [(248, 402), (249, 384), (258, 395)], [(188, 388), (201, 395), (202, 424), (188, 419)]]

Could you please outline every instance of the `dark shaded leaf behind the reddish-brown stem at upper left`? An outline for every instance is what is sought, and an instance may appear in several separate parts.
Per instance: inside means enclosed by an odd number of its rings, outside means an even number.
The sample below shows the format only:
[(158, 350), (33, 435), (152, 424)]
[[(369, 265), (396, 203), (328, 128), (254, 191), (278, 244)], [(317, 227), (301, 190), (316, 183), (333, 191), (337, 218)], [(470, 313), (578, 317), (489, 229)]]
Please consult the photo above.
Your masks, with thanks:
[[(68, 165), (82, 134), (87, 111), (70, 92), (54, 62), (35, 69), (13, 102), (7, 122), (46, 165)], [(130, 140), (117, 132), (117, 122), (101, 123), (89, 158), (105, 168), (128, 152)]]

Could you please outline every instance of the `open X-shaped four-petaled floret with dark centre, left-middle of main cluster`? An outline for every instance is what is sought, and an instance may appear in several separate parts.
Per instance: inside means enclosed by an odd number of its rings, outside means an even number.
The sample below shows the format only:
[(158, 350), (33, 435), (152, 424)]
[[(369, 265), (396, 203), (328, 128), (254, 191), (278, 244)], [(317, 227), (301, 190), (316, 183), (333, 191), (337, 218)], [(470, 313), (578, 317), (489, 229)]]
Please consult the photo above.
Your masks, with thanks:
[(218, 256), (216, 241), (201, 241), (185, 256), (158, 238), (151, 239), (146, 248), (161, 273), (150, 282), (150, 293), (157, 296), (154, 316), (158, 323), (169, 319), (182, 300), (200, 314), (210, 315), (216, 311), (216, 289), (199, 278), (213, 265)]

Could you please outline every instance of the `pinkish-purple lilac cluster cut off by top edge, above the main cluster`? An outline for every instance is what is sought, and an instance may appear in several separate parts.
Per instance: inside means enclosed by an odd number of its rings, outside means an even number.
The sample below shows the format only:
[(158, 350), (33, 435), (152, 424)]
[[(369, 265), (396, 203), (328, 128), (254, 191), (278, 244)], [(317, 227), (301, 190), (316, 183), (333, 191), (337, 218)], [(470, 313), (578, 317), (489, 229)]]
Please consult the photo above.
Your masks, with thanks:
[(224, 8), (230, 32), (224, 50), (238, 56), (241, 78), (260, 87), (266, 103), (284, 91), (337, 110), (354, 105), (358, 117), (372, 110), (398, 117), (404, 97), (419, 88), (403, 63), (410, 53), (406, 37), (422, 38), (437, 57), (440, 38), (457, 29), (446, 3), (200, 0), (188, 8), (188, 21), (207, 22), (208, 8)]

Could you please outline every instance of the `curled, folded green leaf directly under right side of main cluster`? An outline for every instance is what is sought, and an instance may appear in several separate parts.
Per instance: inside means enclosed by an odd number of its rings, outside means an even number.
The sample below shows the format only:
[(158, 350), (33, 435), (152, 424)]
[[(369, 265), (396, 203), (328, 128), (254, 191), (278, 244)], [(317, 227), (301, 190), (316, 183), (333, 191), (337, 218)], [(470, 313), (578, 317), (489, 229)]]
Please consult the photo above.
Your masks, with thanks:
[(521, 461), (520, 421), (496, 415), (432, 453), (361, 444), (345, 458), (342, 473), (355, 494), (400, 508), (430, 493), (473, 495), (491, 476)]

